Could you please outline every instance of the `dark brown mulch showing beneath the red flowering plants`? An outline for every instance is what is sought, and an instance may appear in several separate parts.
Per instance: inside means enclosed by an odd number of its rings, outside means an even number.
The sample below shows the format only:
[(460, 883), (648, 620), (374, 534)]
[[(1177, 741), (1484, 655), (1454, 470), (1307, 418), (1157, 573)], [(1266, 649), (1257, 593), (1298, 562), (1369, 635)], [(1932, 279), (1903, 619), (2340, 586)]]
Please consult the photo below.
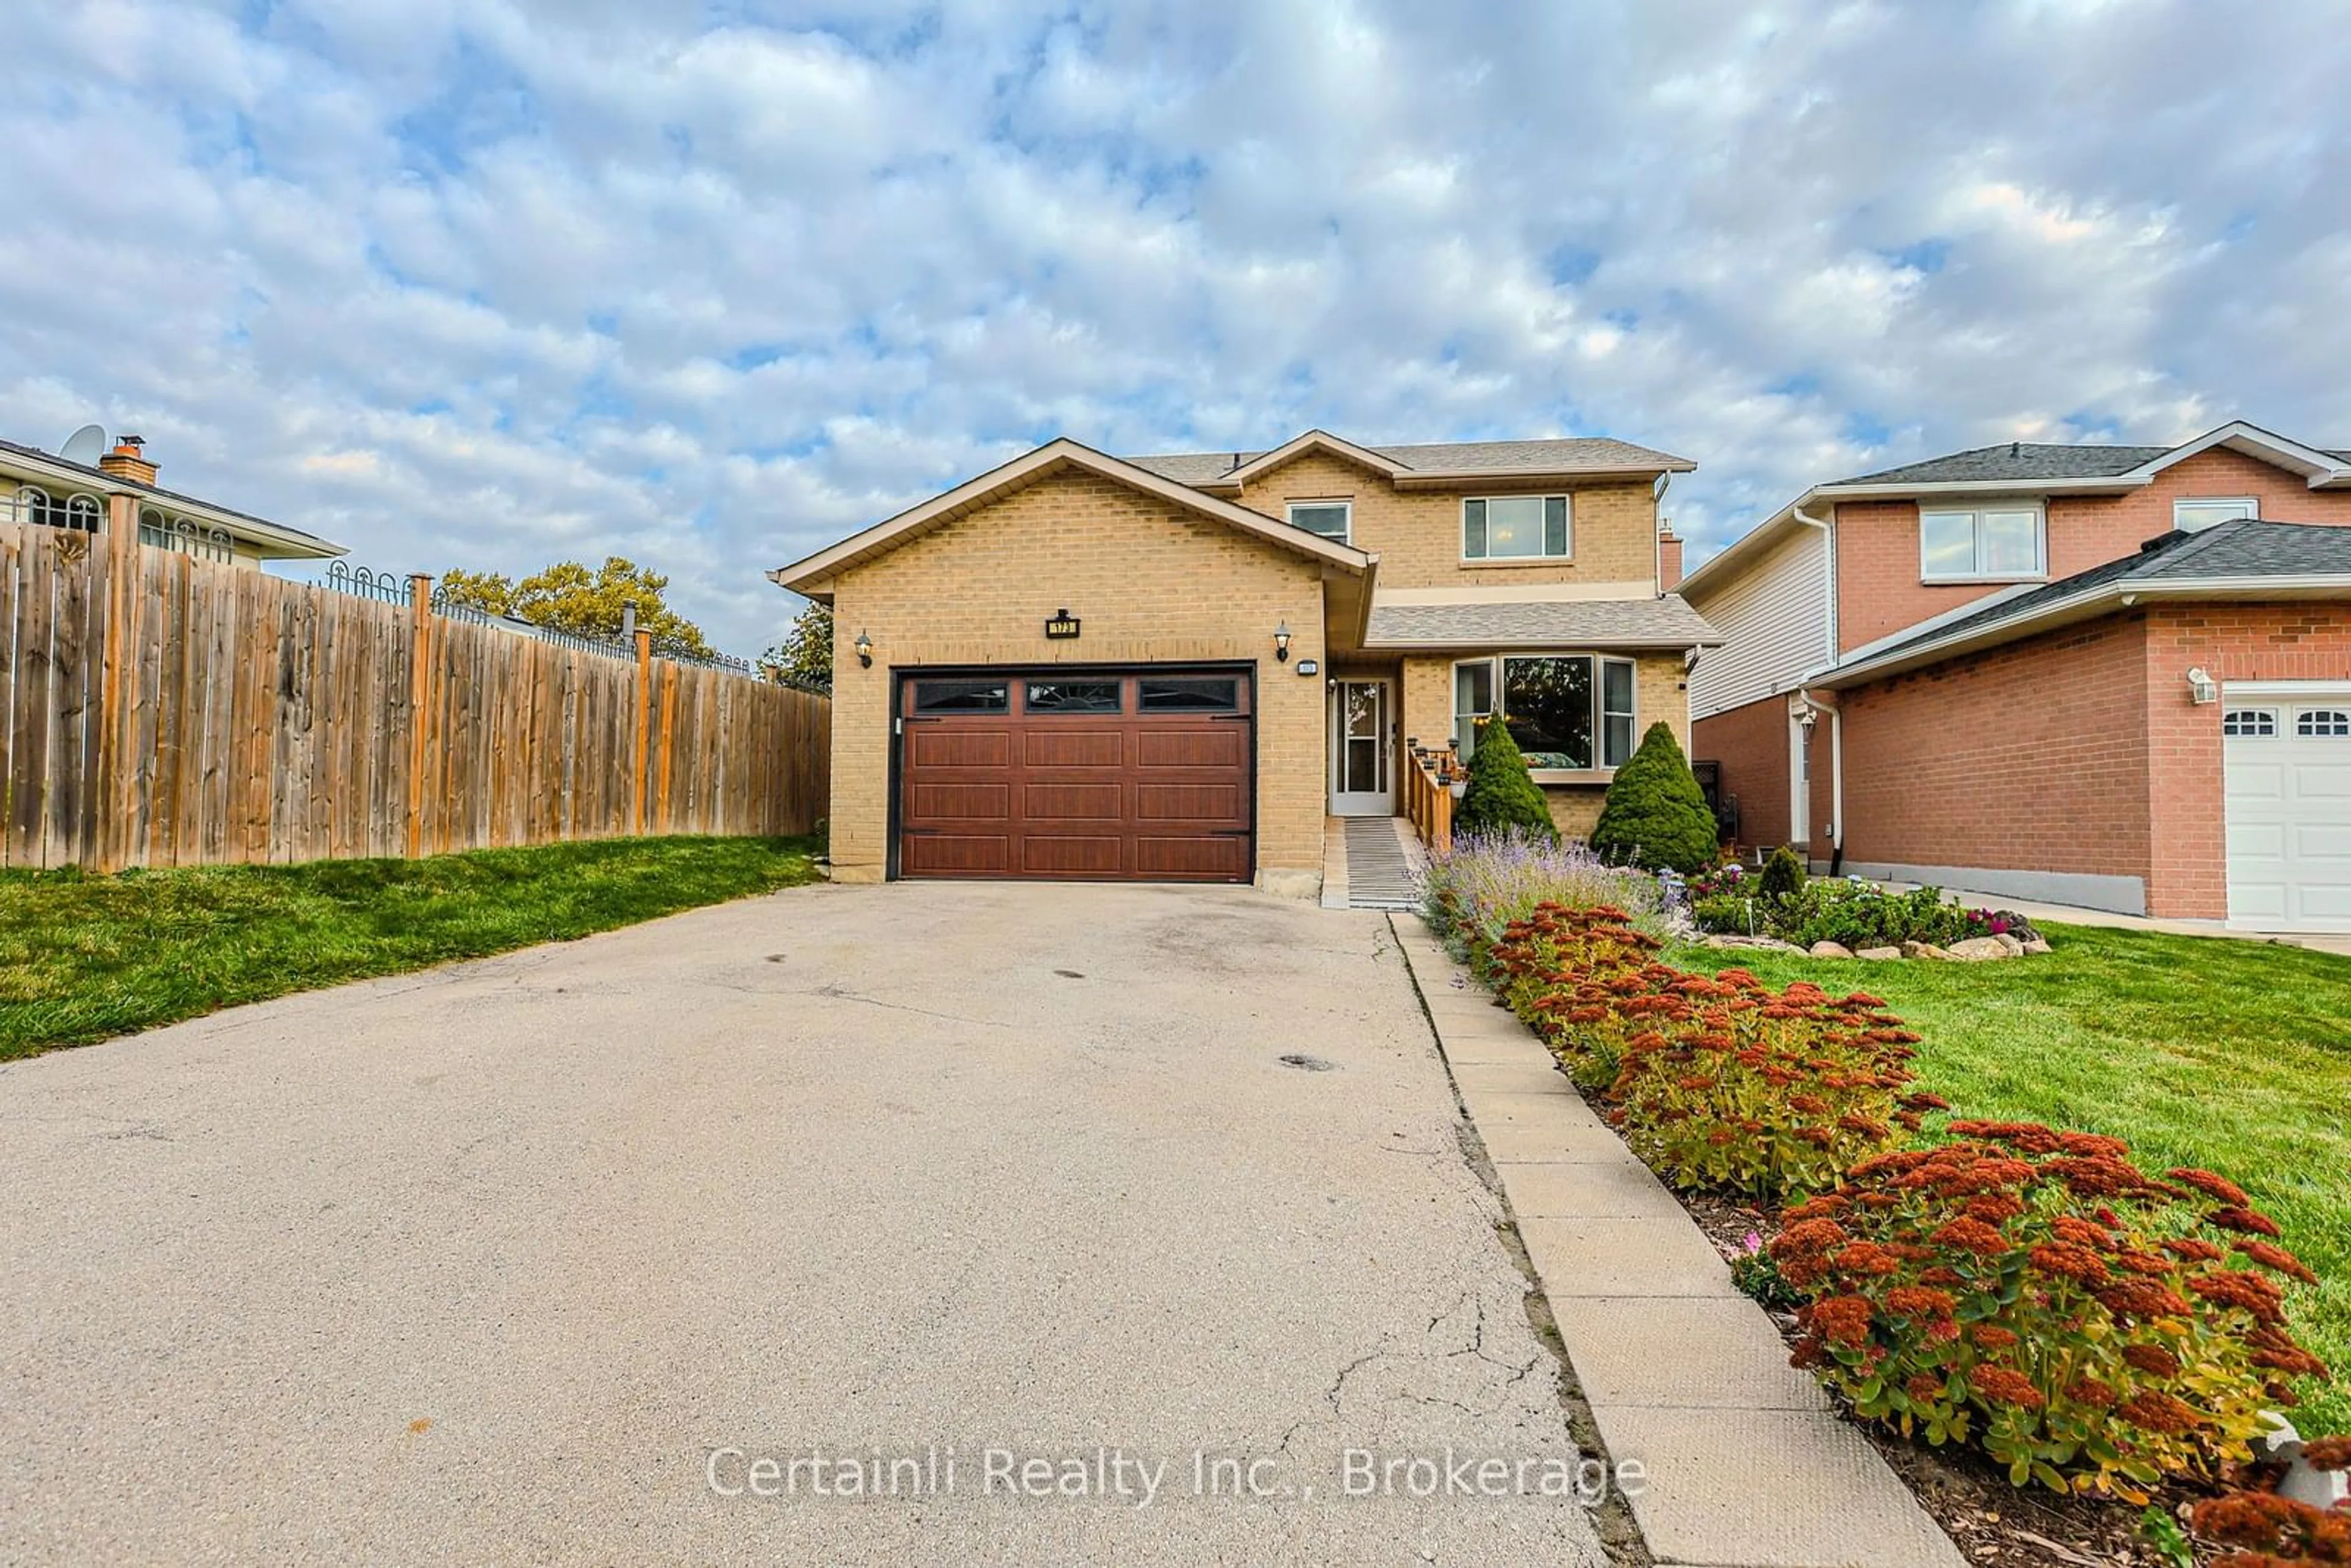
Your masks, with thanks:
[[(1770, 1220), (1759, 1208), (1712, 1194), (1681, 1192), (1676, 1197), (1726, 1262), (1747, 1253), (1751, 1232), (1773, 1234)], [(1770, 1319), (1794, 1342), (1794, 1314), (1773, 1312)], [(1961, 1554), (1972, 1563), (1998, 1563), (2001, 1568), (2175, 1568), (2172, 1559), (2158, 1556), (2144, 1542), (2139, 1509), (2128, 1502), (2017, 1488), (2008, 1483), (2005, 1469), (1975, 1450), (1925, 1448), (1876, 1422), (1855, 1422), (1855, 1427), (1909, 1483), (1918, 1505), (1935, 1516), (1935, 1523), (1958, 1542)], [(2205, 1495), (2172, 1486), (2156, 1493), (2156, 1505), (2179, 1516), (2186, 1505)], [(2186, 1528), (2184, 1521), (2182, 1528)], [(2215, 1556), (2219, 1554), (2198, 1552), (2196, 1561), (2210, 1563)]]

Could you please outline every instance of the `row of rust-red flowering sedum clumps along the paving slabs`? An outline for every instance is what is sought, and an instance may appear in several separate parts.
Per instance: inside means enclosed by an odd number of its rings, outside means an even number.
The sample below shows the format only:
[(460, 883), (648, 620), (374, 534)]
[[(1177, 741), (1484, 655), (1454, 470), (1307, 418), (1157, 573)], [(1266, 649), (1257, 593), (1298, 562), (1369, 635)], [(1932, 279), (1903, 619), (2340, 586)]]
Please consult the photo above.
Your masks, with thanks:
[(2285, 1324), (2309, 1269), (2238, 1187), (2088, 1133), (1928, 1133), (1949, 1107), (1876, 997), (1679, 971), (1608, 905), (1453, 933), (1665, 1180), (1796, 1201), (1749, 1274), (1796, 1291), (1796, 1359), (1860, 1418), (2128, 1500), (2219, 1479), (2325, 1375)]

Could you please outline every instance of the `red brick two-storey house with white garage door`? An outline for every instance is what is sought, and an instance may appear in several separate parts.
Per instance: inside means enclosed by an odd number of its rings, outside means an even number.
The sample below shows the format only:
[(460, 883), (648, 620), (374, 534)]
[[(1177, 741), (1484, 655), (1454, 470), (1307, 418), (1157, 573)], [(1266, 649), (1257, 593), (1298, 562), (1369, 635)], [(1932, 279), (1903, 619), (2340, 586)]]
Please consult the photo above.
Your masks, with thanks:
[(1683, 581), (1747, 846), (2351, 931), (2351, 451), (2003, 444), (1820, 484)]

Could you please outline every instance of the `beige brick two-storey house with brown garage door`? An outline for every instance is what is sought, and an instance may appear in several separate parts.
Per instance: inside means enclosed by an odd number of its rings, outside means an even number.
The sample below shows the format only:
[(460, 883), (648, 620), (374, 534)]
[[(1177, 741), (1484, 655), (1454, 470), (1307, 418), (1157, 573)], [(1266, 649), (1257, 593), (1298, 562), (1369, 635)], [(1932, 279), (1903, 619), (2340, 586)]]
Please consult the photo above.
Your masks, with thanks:
[(1582, 832), (1716, 642), (1613, 440), (1114, 458), (1058, 440), (769, 574), (835, 611), (832, 863), (1258, 882), (1500, 715)]

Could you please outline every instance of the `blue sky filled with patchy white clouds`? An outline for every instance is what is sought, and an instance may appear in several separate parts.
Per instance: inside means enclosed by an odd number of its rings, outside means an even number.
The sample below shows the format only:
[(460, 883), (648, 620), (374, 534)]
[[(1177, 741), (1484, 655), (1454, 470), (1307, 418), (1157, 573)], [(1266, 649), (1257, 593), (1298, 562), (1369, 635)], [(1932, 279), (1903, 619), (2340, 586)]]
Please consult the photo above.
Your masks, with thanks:
[[(672, 21), (675, 16), (675, 21)], [(2351, 444), (2337, 0), (12, 5), (0, 435), (388, 569), (759, 571), (1072, 435), (1813, 480)]]

